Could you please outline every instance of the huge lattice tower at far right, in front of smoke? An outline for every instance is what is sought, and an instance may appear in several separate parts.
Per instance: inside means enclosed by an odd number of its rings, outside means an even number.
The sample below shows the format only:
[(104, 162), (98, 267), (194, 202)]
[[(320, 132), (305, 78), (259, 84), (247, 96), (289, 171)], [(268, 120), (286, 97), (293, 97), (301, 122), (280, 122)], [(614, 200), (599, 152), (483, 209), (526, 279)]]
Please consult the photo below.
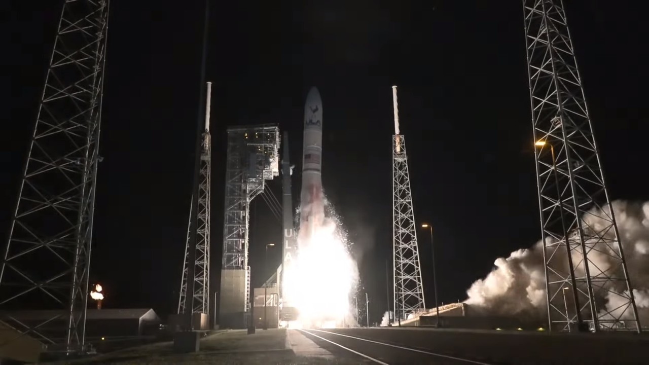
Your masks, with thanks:
[(550, 329), (640, 331), (563, 2), (523, 8)]

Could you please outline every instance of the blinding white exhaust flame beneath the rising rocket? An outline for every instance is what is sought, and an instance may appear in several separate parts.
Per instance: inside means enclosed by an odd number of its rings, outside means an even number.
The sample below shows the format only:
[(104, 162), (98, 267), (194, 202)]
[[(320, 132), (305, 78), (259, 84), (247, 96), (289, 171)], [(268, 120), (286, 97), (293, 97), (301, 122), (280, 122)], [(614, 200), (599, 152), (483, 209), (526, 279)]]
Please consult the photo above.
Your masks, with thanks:
[(284, 273), (284, 296), (299, 312), (299, 320), (289, 327), (356, 326), (350, 297), (356, 290), (358, 269), (346, 234), (335, 218), (324, 218), (310, 232), (298, 234), (297, 260)]

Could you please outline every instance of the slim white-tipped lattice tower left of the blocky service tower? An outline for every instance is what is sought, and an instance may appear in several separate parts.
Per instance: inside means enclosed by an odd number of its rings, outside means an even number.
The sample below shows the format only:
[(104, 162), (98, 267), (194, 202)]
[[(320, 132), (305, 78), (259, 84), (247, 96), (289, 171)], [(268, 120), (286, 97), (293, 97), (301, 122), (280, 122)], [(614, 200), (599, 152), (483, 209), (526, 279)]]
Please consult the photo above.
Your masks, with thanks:
[[(191, 313), (208, 314), (210, 310), (210, 184), (212, 175), (212, 137), (210, 136), (210, 98), (212, 97), (212, 82), (207, 83), (207, 102), (205, 108), (205, 130), (201, 138), (201, 166), (199, 171), (199, 196), (196, 232), (191, 232), (191, 212), (193, 201), (190, 205), (190, 222), (187, 229), (187, 242), (185, 244), (185, 260), (182, 266), (182, 279), (180, 281), (180, 297), (178, 299), (178, 314), (186, 313), (187, 290), (189, 277), (193, 277), (193, 301)], [(190, 255), (191, 234), (196, 235), (195, 255)], [(192, 258), (195, 258), (192, 260)], [(190, 266), (193, 265), (193, 270)]]

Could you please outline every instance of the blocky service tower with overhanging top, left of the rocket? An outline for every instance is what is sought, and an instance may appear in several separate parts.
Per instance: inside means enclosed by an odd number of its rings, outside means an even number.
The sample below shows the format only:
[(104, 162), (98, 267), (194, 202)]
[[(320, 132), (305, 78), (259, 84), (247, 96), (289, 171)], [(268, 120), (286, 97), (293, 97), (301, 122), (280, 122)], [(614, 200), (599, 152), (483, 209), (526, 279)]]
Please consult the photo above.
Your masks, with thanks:
[(251, 313), (248, 227), (252, 199), (279, 175), (277, 125), (230, 127), (225, 171), (219, 327), (245, 328)]

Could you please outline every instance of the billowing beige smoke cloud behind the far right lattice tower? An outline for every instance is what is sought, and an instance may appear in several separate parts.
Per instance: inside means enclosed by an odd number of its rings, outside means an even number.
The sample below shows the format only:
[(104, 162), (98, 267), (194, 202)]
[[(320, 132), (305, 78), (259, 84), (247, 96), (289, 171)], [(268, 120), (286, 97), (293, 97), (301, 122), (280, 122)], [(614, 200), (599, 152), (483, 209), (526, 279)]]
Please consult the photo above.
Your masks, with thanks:
[[(635, 303), (642, 323), (649, 321), (649, 202), (633, 203), (614, 201), (613, 212), (617, 220), (620, 241), (626, 258)], [(599, 218), (600, 212), (587, 214), (586, 225), (600, 229), (604, 221)], [(565, 254), (564, 254), (565, 255)], [(573, 262), (580, 262), (581, 253), (573, 253)], [(588, 257), (596, 263), (591, 268), (591, 275), (611, 268), (608, 255), (593, 249)], [(563, 258), (566, 262), (567, 259)], [(547, 316), (545, 296), (545, 271), (543, 265), (543, 243), (541, 241), (529, 249), (519, 249), (508, 258), (497, 258), (495, 268), (487, 277), (479, 279), (467, 290), (469, 299), (465, 303), (483, 314), (495, 316), (517, 316), (543, 318)], [(592, 267), (593, 265), (591, 265)], [(583, 274), (583, 266), (576, 266), (578, 274)], [(620, 270), (617, 274), (622, 277)], [(624, 286), (607, 288), (599, 292), (596, 303), (606, 305), (614, 316), (632, 318), (630, 310), (620, 305), (626, 301), (622, 294), (628, 296)], [(616, 294), (617, 293), (617, 294)], [(626, 311), (625, 311), (626, 310)], [(621, 313), (624, 311), (624, 313)]]

